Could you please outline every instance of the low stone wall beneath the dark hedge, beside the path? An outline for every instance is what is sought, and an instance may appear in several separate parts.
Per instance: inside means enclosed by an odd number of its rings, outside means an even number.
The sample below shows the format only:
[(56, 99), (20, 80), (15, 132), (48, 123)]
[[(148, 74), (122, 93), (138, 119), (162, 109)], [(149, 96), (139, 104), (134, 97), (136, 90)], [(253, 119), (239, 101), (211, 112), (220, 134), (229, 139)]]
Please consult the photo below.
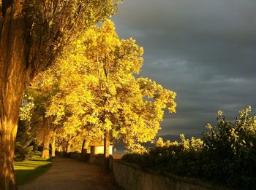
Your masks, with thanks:
[(115, 176), (116, 182), (125, 190), (205, 190), (227, 189), (221, 186), (212, 186), (206, 182), (182, 178), (176, 175), (159, 175), (140, 170), (137, 165), (122, 162), (110, 157), (110, 170)]

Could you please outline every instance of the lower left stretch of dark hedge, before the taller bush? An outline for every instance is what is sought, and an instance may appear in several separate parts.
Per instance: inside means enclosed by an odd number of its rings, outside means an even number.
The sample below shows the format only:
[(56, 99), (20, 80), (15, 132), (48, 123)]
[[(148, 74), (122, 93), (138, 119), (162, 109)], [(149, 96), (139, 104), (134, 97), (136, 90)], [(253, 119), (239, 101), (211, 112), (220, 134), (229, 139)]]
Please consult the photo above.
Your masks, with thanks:
[(164, 143), (162, 138), (157, 140), (156, 146), (143, 154), (125, 154), (122, 159), (127, 162), (140, 164), (143, 168), (158, 170), (160, 173), (170, 173), (176, 171), (176, 174), (195, 173), (197, 168), (197, 159), (200, 159), (199, 151), (203, 149), (203, 141), (192, 138), (185, 139), (181, 135), (181, 143), (167, 141)]

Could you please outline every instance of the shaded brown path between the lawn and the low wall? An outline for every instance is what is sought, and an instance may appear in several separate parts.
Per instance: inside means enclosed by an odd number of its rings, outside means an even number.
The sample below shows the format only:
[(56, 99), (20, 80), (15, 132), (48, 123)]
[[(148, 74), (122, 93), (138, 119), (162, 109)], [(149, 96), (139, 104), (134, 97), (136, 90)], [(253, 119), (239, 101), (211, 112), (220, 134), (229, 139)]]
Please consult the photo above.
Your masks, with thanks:
[(19, 190), (121, 190), (113, 175), (99, 165), (90, 165), (75, 159), (56, 157), (52, 167)]

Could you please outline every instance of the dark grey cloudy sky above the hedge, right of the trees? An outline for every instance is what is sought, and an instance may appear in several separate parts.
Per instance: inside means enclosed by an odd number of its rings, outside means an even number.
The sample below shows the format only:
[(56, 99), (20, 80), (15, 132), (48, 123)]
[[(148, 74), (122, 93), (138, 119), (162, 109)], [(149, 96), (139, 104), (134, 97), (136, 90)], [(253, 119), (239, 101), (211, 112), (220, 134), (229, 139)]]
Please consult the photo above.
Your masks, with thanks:
[(113, 17), (121, 38), (144, 47), (141, 76), (177, 92), (176, 114), (163, 134), (194, 134), (232, 120), (252, 106), (256, 115), (255, 0), (124, 0)]

